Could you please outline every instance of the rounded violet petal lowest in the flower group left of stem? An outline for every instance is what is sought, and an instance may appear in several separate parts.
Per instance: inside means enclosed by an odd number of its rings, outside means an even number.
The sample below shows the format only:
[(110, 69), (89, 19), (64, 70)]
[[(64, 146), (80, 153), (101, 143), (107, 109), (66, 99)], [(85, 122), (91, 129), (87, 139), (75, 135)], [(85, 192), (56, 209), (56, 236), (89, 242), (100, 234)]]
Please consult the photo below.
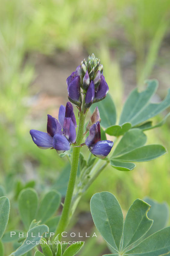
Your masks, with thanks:
[(62, 153), (70, 149), (70, 143), (65, 136), (55, 134), (53, 137), (53, 148), (57, 150), (57, 153)]

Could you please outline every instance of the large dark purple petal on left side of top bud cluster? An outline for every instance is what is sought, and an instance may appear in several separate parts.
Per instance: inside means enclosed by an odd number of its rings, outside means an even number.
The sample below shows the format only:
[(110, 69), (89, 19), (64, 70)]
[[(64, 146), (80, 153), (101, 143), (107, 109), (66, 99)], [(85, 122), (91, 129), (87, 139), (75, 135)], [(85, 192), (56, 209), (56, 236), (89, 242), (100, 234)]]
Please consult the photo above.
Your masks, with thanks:
[(67, 87), (68, 97), (80, 102), (80, 76), (75, 76)]

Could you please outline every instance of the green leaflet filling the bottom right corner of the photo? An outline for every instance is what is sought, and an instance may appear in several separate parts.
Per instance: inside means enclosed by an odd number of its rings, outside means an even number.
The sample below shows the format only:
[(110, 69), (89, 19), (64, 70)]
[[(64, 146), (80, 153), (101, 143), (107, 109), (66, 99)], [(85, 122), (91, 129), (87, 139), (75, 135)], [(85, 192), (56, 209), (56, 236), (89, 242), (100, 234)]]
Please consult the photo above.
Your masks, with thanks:
[(164, 256), (170, 253), (170, 227), (159, 230), (139, 245), (126, 251), (125, 255)]

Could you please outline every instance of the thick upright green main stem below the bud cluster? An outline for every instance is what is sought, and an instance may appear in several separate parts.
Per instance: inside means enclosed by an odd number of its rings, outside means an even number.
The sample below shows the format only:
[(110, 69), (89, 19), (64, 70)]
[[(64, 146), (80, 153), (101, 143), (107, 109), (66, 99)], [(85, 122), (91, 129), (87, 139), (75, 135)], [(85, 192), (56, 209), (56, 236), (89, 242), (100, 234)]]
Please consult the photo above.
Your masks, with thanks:
[[(84, 126), (85, 126), (86, 114), (83, 114), (83, 111), (84, 110), (82, 109), (82, 111), (79, 113), (79, 129), (78, 129), (78, 133), (77, 133), (75, 146), (79, 146), (82, 143), (82, 139), (84, 137)], [(76, 176), (77, 176), (80, 149), (81, 149), (81, 147), (73, 147), (73, 158), (72, 158), (69, 183), (68, 183), (68, 187), (67, 187), (63, 211), (62, 211), (60, 221), (58, 223), (58, 226), (57, 226), (57, 229), (55, 232), (55, 236), (57, 236), (59, 234), (59, 238), (58, 238), (59, 240), (61, 239), (61, 233), (63, 231), (65, 231), (65, 229), (68, 225), (69, 219), (70, 219), (70, 205), (71, 205), (71, 201), (72, 201), (73, 190), (74, 190)]]

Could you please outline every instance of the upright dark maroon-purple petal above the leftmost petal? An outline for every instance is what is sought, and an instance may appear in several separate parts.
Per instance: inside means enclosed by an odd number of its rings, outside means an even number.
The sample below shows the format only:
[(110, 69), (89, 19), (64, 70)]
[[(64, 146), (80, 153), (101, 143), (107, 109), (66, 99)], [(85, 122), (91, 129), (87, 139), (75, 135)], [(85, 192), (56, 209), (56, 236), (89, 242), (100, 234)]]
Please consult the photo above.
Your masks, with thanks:
[(62, 127), (60, 123), (58, 122), (57, 119), (52, 117), (51, 115), (47, 115), (48, 120), (47, 120), (47, 132), (48, 134), (53, 137), (56, 133), (62, 134)]

